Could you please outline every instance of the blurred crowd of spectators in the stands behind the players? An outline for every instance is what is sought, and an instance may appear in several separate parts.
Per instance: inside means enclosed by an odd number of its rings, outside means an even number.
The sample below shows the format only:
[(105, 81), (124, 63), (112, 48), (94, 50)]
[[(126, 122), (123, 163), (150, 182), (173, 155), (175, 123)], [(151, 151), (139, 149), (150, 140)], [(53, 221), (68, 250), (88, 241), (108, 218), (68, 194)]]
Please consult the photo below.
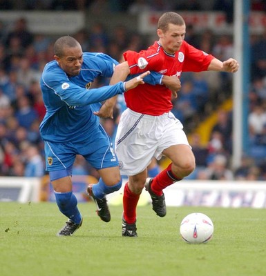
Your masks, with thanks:
[[(118, 3), (117, 9), (136, 13), (140, 7), (172, 10), (186, 7), (205, 10), (204, 3), (218, 4), (231, 1), (37, 1), (39, 6), (30, 6), (32, 1), (1, 1), (3, 9), (25, 5), (25, 9), (72, 9), (66, 3), (86, 8), (106, 5), (110, 8)], [(252, 1), (253, 4), (265, 1)], [(182, 3), (182, 5), (181, 5)], [(180, 5), (179, 5), (180, 4)], [(162, 7), (163, 6), (163, 7)], [(193, 7), (193, 8), (192, 8)], [(2, 6), (1, 6), (2, 8)], [(159, 9), (160, 8), (160, 9)], [(39, 124), (46, 109), (41, 97), (39, 79), (48, 61), (53, 60), (54, 38), (28, 31), (25, 18), (18, 19), (12, 28), (0, 21), (0, 175), (15, 177), (41, 177), (44, 169), (44, 144), (39, 136)], [(118, 61), (124, 50), (139, 51), (148, 46), (137, 32), (129, 34), (125, 26), (117, 26), (112, 34), (107, 33), (102, 23), (95, 23), (89, 30), (73, 34), (84, 51), (105, 52)], [(211, 37), (211, 39), (210, 39)], [(187, 26), (186, 40), (193, 46), (205, 50), (221, 60), (232, 57), (233, 41), (227, 35), (216, 36), (210, 30), (196, 34), (193, 26)], [(243, 156), (239, 168), (231, 168), (232, 115), (219, 109), (219, 104), (231, 97), (231, 75), (220, 72), (200, 74), (187, 73), (181, 77), (182, 88), (178, 99), (173, 99), (172, 112), (184, 124), (184, 130), (192, 134), (191, 146), (196, 156), (197, 168), (188, 179), (247, 179), (266, 180), (266, 31), (251, 39), (251, 84), (249, 92), (249, 144), (250, 152)], [(93, 87), (108, 84), (108, 79), (97, 79)], [(126, 108), (124, 97), (117, 100), (114, 119), (102, 119), (102, 125), (114, 141), (117, 123)], [(218, 112), (218, 121), (207, 145), (202, 145), (195, 127), (211, 112)], [(84, 159), (77, 157), (73, 174), (97, 177)]]

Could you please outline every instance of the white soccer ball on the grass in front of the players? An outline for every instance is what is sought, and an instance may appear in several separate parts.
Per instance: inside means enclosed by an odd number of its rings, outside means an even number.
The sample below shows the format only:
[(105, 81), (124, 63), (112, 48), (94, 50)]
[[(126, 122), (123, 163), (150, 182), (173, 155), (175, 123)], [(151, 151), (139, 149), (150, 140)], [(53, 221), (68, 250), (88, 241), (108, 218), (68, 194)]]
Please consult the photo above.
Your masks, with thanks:
[(191, 213), (180, 224), (182, 239), (189, 244), (207, 243), (213, 236), (213, 223), (202, 213)]

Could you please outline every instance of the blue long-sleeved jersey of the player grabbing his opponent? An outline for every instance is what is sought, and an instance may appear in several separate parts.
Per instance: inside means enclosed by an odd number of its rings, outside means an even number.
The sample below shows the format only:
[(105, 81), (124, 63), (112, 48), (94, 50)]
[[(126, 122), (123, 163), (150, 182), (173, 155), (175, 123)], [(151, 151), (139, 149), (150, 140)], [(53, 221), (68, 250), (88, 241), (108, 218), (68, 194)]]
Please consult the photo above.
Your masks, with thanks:
[(89, 88), (95, 78), (111, 77), (116, 64), (108, 55), (84, 52), (82, 70), (75, 77), (68, 77), (57, 61), (46, 64), (40, 81), (46, 106), (40, 125), (42, 139), (55, 143), (95, 139), (93, 132), (99, 128), (99, 119), (93, 115), (93, 103), (122, 94), (124, 83)]

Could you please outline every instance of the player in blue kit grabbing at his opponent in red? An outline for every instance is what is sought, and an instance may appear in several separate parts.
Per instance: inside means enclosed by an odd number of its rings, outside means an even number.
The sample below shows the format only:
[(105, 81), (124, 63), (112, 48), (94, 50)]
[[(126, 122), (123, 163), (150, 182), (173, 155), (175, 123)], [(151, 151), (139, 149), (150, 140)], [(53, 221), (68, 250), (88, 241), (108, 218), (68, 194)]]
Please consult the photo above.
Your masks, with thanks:
[(106, 195), (122, 186), (117, 157), (99, 124), (97, 106), (99, 109), (99, 102), (143, 84), (149, 72), (114, 86), (89, 89), (96, 77), (111, 77), (117, 61), (102, 53), (82, 52), (79, 42), (70, 36), (57, 39), (54, 48), (55, 60), (46, 64), (40, 81), (46, 106), (40, 133), (55, 200), (68, 217), (57, 235), (70, 236), (82, 226), (71, 179), (76, 155), (82, 155), (99, 172), (99, 182), (89, 185), (88, 193), (103, 221), (111, 219)]

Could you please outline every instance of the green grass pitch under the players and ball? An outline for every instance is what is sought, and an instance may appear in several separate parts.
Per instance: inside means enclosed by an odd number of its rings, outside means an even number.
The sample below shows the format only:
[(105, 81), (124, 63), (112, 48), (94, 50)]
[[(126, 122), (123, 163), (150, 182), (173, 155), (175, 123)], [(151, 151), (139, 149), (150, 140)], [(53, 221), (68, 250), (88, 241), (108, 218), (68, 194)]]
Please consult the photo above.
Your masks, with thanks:
[[(137, 208), (137, 238), (121, 236), (122, 206), (111, 206), (106, 224), (93, 203), (79, 204), (84, 224), (73, 237), (57, 237), (66, 219), (53, 203), (0, 202), (0, 275), (100, 276), (265, 276), (264, 209), (167, 208), (157, 217), (151, 206)], [(186, 244), (182, 218), (211, 217), (213, 239)]]

